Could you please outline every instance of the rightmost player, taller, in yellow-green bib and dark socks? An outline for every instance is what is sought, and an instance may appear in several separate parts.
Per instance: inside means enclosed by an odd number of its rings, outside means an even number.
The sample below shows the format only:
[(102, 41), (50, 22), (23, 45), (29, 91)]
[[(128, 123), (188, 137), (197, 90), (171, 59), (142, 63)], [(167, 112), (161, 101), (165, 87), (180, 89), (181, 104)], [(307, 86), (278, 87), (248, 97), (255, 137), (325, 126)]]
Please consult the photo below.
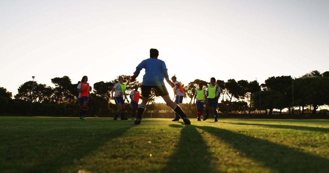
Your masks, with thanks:
[(220, 87), (215, 83), (216, 79), (212, 77), (210, 79), (210, 85), (208, 85), (208, 99), (207, 99), (207, 106), (206, 106), (206, 117), (203, 119), (203, 121), (207, 120), (209, 118), (209, 108), (210, 106), (213, 107), (214, 110), (214, 116), (215, 116), (215, 122), (217, 122), (218, 112), (218, 98), (220, 96)]

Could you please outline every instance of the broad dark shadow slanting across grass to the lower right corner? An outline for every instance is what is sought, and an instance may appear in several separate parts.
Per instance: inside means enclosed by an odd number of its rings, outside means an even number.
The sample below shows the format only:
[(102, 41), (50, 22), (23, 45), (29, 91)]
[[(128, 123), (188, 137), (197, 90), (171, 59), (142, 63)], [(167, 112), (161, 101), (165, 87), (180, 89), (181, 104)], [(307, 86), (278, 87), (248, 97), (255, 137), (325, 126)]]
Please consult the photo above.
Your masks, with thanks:
[(231, 144), (246, 157), (264, 163), (278, 172), (327, 172), (329, 160), (229, 130), (196, 126)]

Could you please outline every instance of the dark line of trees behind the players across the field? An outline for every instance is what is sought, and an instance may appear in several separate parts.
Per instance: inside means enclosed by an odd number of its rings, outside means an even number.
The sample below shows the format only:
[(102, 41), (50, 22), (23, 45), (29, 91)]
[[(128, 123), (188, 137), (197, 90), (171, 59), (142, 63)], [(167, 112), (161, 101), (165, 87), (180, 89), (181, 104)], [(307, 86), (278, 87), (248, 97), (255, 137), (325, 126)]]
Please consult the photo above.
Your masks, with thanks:
[[(122, 75), (128, 80), (127, 95), (134, 89), (135, 85), (141, 86), (138, 81), (131, 82), (129, 75)], [(0, 113), (16, 115), (38, 115), (38, 116), (75, 116), (78, 107), (77, 85), (80, 81), (72, 83), (68, 76), (51, 79), (55, 87), (38, 84), (36, 81), (27, 81), (18, 87), (18, 93), (12, 99), (12, 92), (0, 87)], [(118, 82), (118, 77), (108, 82), (96, 82), (93, 88), (89, 88), (93, 99), (89, 100), (89, 111), (87, 115), (110, 115), (116, 110), (116, 106), (110, 102), (111, 90)], [(195, 89), (199, 83), (206, 88), (209, 82), (195, 79), (187, 85), (182, 84), (185, 98), (188, 103), (184, 104), (187, 113), (195, 111), (194, 99)], [(265, 114), (272, 114), (273, 109), (279, 113), (288, 108), (289, 113), (294, 113), (296, 108), (303, 114), (310, 107), (312, 113), (316, 113), (318, 106), (329, 104), (329, 71), (320, 73), (311, 71), (299, 78), (291, 76), (269, 77), (264, 84), (255, 81), (229, 79), (227, 82), (217, 80), (222, 92), (218, 110), (223, 114), (230, 112), (254, 112), (263, 110)], [(32, 97), (33, 86), (33, 97)], [(31, 112), (31, 99), (32, 112)], [(155, 104), (155, 94), (150, 98), (149, 110), (170, 110), (165, 104)], [(127, 105), (127, 112), (131, 112)], [(297, 109), (298, 110), (298, 109)], [(296, 112), (295, 112), (296, 113)]]

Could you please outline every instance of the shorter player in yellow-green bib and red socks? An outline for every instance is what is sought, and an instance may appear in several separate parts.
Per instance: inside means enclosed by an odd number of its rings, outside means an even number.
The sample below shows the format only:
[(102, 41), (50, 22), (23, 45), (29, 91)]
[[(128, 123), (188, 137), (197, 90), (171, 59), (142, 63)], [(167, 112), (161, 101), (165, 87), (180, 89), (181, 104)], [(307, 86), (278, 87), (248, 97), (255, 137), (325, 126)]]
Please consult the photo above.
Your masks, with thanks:
[[(195, 103), (196, 98), (196, 103)], [(193, 103), (196, 104), (196, 109), (198, 111), (198, 121), (201, 121), (201, 115), (204, 108), (205, 103), (207, 102), (207, 91), (203, 88), (203, 84), (199, 83), (199, 88), (195, 89), (194, 93), (194, 101)]]

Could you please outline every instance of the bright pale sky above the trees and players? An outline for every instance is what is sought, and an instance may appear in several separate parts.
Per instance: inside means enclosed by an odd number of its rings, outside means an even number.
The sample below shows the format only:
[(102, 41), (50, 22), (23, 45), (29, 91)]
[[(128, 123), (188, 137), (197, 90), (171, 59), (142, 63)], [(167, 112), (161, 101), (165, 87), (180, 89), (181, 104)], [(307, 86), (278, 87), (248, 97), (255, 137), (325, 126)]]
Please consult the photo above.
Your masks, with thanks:
[(54, 87), (64, 75), (92, 86), (132, 75), (150, 48), (184, 84), (322, 73), (328, 9), (328, 0), (0, 0), (0, 86), (15, 95), (32, 76)]

